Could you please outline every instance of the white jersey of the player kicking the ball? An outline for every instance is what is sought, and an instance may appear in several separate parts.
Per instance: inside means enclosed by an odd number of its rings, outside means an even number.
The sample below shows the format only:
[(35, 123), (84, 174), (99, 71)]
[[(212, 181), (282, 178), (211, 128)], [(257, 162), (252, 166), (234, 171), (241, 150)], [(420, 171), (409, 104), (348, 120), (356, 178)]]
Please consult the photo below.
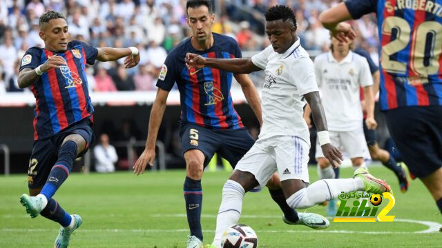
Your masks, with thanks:
[(298, 136), (310, 144), (304, 114), (304, 95), (318, 91), (313, 61), (300, 45), (300, 39), (284, 53), (271, 45), (251, 58), (265, 70), (262, 89), (262, 127), (260, 139), (272, 136)]

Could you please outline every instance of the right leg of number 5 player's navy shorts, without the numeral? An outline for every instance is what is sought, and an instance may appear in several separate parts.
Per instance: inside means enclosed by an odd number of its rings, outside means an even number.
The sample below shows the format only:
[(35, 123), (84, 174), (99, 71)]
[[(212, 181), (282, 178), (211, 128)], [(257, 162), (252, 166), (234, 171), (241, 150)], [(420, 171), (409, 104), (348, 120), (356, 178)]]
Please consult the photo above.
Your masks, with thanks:
[(249, 152), (255, 140), (245, 128), (220, 131), (218, 133), (222, 136), (222, 146), (218, 152), (220, 156), (227, 159), (232, 167), (235, 168), (242, 156)]

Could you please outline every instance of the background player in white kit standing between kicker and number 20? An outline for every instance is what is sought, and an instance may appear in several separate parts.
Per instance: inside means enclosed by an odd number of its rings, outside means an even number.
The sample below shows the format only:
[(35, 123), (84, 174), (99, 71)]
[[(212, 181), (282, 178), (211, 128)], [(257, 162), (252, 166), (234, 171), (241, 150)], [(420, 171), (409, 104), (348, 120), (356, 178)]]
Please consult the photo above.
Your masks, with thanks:
[[(314, 68), (329, 128), (330, 141), (342, 147), (352, 160), (354, 170), (365, 167), (369, 156), (363, 130), (363, 111), (360, 87), (363, 87), (369, 130), (377, 126), (374, 120), (373, 78), (367, 59), (351, 50), (353, 41), (340, 42), (332, 37), (331, 50), (316, 56)], [(316, 142), (316, 160), (320, 179), (335, 178), (335, 172)], [(332, 199), (327, 215), (336, 214), (336, 200)]]

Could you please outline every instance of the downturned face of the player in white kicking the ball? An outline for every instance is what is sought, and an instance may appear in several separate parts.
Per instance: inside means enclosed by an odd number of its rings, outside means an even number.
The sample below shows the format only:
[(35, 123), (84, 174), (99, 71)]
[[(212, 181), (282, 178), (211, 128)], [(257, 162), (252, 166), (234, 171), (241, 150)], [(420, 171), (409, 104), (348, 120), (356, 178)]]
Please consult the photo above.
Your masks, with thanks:
[(265, 32), (269, 37), (271, 46), (280, 54), (287, 51), (296, 41), (296, 27), (291, 21), (267, 21)]

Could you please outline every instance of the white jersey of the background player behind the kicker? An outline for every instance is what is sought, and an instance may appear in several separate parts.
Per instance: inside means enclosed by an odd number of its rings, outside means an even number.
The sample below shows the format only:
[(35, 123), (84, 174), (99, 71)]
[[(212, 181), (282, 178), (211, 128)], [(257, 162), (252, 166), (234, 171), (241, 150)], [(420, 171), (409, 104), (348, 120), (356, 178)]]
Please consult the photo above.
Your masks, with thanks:
[(373, 85), (367, 59), (350, 51), (338, 62), (332, 52), (314, 61), (320, 98), (330, 131), (352, 131), (362, 127), (360, 87)]

